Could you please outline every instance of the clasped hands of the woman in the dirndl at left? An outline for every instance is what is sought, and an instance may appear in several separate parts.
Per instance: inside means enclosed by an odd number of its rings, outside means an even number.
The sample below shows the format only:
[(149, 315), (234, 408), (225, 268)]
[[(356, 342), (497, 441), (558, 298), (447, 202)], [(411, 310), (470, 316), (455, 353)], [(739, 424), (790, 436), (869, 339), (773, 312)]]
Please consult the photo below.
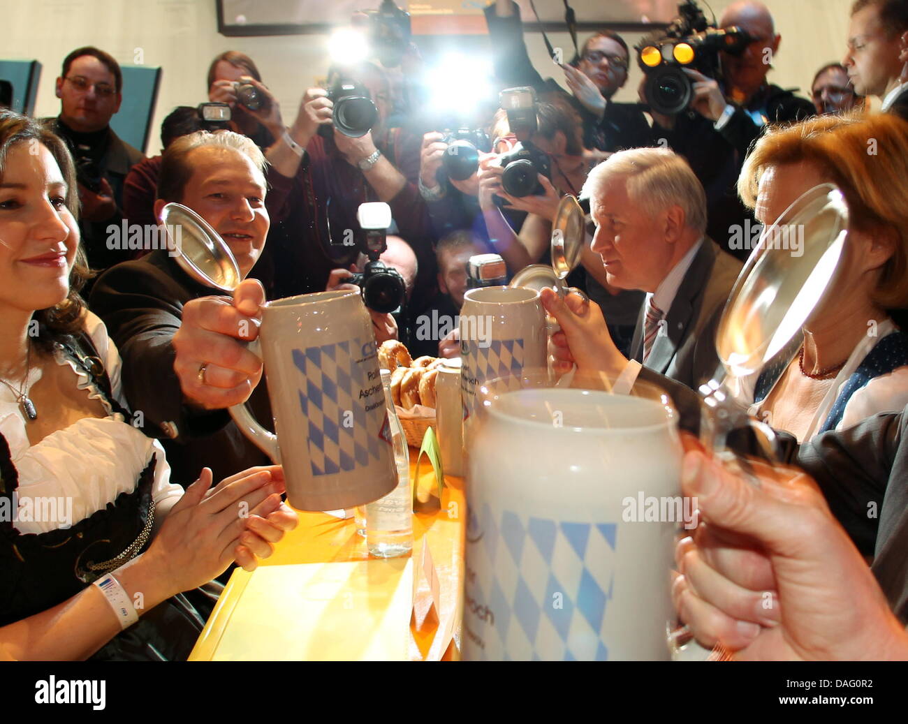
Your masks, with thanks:
[[(284, 489), (280, 466), (253, 467), (225, 478), (213, 489), (211, 484), (212, 471), (206, 467), (173, 505), (151, 547), (143, 553), (144, 563), (158, 581), (166, 582), (171, 595), (224, 572), (234, 560), (234, 549), (241, 543), (251, 512)], [(244, 542), (262, 551), (261, 544), (249, 536)]]

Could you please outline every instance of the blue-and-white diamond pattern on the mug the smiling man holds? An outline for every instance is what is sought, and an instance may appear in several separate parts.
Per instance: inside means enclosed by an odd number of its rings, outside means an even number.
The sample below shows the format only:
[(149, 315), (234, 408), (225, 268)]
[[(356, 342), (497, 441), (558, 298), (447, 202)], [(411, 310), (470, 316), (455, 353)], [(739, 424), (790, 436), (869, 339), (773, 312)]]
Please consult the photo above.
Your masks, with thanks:
[[(309, 420), (309, 457), (312, 475), (332, 475), (370, 465), (381, 457), (384, 405), (366, 412), (380, 399), (378, 363), (359, 359), (365, 345), (360, 339), (293, 350), (300, 370), (302, 414)], [(375, 367), (370, 380), (367, 370)], [(379, 385), (377, 394), (360, 399), (360, 390)], [(387, 454), (387, 453), (386, 453)]]

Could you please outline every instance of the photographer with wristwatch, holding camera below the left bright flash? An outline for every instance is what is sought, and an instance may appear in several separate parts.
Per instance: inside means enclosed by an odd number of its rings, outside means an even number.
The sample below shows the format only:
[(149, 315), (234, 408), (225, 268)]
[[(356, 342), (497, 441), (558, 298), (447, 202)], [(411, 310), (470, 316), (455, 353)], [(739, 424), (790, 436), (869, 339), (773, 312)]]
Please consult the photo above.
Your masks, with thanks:
[[(331, 269), (355, 263), (359, 250), (345, 243), (345, 237), (359, 228), (357, 210), (366, 201), (385, 201), (397, 232), (419, 259), (414, 290), (419, 295), (434, 274), (431, 225), (417, 187), (419, 139), (387, 127), (389, 85), (378, 66), (357, 64), (345, 73), (333, 69), (329, 77), (330, 89), (311, 88), (303, 98), (299, 134), (294, 138), (305, 148), (304, 157), (297, 157), (291, 170), (277, 170), (290, 191), (272, 209), (274, 218), (282, 221), (279, 233), (286, 237), (281, 243), (284, 258), (276, 265), (276, 293), (324, 289)], [(341, 81), (354, 84), (375, 105), (377, 122), (358, 137), (332, 128), (335, 103), (330, 95)], [(322, 127), (330, 130), (320, 131)]]

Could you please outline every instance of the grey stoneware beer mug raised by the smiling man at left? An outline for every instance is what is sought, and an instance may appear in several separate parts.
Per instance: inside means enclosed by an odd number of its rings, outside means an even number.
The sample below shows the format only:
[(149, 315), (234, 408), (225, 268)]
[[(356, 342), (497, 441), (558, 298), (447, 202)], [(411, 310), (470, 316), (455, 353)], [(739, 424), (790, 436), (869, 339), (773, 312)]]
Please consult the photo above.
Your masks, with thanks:
[(244, 405), (231, 416), (281, 463), (299, 510), (352, 508), (398, 483), (379, 358), (359, 292), (326, 291), (268, 302), (259, 337), (277, 435)]

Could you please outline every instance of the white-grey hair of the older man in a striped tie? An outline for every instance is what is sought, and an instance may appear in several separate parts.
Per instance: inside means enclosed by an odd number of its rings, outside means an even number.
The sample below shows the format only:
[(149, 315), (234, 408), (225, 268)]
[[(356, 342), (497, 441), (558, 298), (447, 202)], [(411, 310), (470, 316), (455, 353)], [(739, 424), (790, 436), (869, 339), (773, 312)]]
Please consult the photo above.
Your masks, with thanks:
[(706, 232), (706, 191), (687, 161), (675, 152), (637, 148), (614, 153), (590, 171), (581, 196), (595, 201), (602, 184), (615, 176), (627, 179), (627, 196), (647, 216), (679, 206), (689, 229)]

